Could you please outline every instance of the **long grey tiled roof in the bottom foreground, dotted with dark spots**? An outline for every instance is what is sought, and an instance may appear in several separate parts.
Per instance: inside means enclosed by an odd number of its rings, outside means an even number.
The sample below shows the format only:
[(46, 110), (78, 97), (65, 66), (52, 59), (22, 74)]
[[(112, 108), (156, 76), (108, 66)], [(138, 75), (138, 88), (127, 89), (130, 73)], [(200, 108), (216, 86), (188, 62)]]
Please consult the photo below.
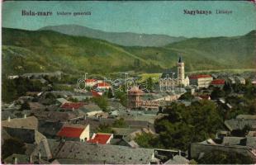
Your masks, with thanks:
[(101, 164), (149, 164), (153, 155), (154, 149), (151, 148), (66, 141), (55, 158), (86, 160), (88, 163), (97, 161)]

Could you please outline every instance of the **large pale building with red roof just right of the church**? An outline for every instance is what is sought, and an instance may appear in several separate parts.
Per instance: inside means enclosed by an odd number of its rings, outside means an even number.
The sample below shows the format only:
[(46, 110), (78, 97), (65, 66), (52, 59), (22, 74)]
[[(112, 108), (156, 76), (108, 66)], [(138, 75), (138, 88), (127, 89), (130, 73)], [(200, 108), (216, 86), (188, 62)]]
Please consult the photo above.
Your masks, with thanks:
[(209, 74), (197, 74), (189, 76), (189, 84), (195, 85), (199, 88), (209, 87), (213, 78)]

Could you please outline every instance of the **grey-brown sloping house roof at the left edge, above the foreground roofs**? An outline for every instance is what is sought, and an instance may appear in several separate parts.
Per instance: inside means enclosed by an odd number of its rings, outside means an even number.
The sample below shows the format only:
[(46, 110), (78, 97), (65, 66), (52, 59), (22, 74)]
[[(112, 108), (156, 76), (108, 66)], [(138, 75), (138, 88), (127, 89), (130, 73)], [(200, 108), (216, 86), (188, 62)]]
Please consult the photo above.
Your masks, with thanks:
[(38, 120), (35, 116), (24, 116), (23, 118), (8, 118), (7, 120), (2, 120), (2, 127), (9, 128), (23, 128), (23, 129), (38, 129)]

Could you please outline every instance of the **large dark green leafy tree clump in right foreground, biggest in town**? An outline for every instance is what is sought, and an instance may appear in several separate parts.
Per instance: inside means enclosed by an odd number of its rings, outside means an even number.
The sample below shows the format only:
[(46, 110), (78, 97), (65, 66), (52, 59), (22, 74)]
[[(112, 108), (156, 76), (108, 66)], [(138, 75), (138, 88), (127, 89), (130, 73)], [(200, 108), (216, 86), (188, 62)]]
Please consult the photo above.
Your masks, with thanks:
[(164, 113), (168, 114), (154, 121), (164, 148), (186, 150), (192, 142), (214, 138), (216, 130), (222, 129), (222, 118), (212, 101), (195, 101), (191, 106), (173, 103)]

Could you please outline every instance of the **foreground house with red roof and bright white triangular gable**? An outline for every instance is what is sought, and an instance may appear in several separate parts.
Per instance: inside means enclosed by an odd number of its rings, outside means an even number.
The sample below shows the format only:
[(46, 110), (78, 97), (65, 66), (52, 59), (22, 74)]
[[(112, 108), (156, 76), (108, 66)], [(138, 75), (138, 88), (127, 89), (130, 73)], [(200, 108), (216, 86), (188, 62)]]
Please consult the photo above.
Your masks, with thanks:
[(57, 136), (84, 142), (90, 139), (89, 129), (89, 125), (64, 125), (57, 133)]

